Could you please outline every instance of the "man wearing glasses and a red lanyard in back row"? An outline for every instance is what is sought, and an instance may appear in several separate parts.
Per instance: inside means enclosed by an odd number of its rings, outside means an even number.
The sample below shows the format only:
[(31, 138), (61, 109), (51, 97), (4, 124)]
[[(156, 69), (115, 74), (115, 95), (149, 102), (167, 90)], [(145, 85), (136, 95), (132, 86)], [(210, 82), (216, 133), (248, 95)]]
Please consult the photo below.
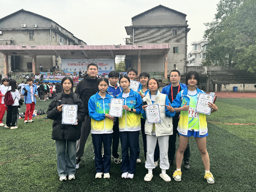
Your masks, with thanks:
[[(180, 83), (180, 71), (178, 70), (172, 70), (170, 73), (170, 81), (171, 84), (164, 87), (162, 92), (163, 94), (166, 94), (172, 103), (174, 99), (176, 99), (177, 94), (185, 89), (187, 86), (183, 83)], [(169, 136), (169, 148), (168, 148), (168, 159), (170, 165), (174, 164), (174, 155), (176, 152), (176, 135), (178, 134), (177, 127), (179, 123), (179, 116), (180, 112), (176, 113), (175, 116), (172, 118), (172, 125), (173, 125), (173, 134)], [(179, 134), (178, 134), (179, 136)], [(190, 170), (189, 166), (189, 157), (190, 157), (190, 148), (189, 143), (187, 145), (187, 148), (184, 152), (183, 161), (184, 161), (184, 169)]]

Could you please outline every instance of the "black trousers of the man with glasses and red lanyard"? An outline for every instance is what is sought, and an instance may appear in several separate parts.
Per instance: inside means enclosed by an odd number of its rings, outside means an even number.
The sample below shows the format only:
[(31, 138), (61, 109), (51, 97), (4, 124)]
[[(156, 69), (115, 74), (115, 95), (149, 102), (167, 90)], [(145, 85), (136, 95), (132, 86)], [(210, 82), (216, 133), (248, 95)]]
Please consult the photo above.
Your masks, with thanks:
[[(176, 152), (176, 135), (178, 134), (178, 136), (180, 136), (177, 130), (178, 123), (179, 123), (179, 119), (172, 119), (173, 134), (169, 136), (169, 149), (168, 149), (169, 160), (174, 160), (174, 156)], [(190, 147), (188, 142), (187, 148), (184, 151), (183, 161), (189, 161), (189, 157), (190, 157)]]

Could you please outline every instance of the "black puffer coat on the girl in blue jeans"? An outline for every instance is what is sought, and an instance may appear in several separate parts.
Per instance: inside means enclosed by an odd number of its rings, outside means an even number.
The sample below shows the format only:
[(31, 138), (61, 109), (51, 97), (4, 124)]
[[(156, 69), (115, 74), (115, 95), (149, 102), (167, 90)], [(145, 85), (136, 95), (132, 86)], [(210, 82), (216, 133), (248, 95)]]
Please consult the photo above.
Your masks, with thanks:
[[(77, 105), (78, 125), (62, 124), (62, 111), (60, 113), (56, 111), (59, 100), (62, 101), (63, 105)], [(80, 139), (81, 126), (85, 119), (85, 108), (78, 94), (73, 93), (73, 91), (71, 91), (70, 94), (65, 94), (64, 92), (56, 94), (55, 99), (50, 103), (46, 113), (47, 118), (53, 119), (53, 140), (64, 139), (77, 141)]]

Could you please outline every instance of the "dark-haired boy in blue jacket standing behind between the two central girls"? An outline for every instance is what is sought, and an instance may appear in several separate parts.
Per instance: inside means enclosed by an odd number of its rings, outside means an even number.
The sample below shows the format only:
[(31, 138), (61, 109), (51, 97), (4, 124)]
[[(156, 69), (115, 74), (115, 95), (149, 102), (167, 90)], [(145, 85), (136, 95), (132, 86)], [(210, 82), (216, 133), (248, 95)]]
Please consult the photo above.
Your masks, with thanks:
[[(108, 74), (108, 94), (115, 97), (122, 92), (122, 88), (118, 83), (119, 80), (119, 73), (117, 71), (111, 71)], [(113, 126), (113, 133), (112, 133), (112, 158), (116, 164), (120, 163), (119, 153), (118, 153), (118, 146), (119, 146), (119, 121), (118, 117), (116, 117), (115, 124)]]

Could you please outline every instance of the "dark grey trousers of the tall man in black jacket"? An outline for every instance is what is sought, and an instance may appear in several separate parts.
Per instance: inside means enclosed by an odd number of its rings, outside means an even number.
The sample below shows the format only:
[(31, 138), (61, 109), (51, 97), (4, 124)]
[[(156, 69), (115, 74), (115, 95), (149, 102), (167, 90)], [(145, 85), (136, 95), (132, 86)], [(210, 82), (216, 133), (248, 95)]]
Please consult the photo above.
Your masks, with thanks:
[(84, 155), (85, 143), (91, 132), (91, 117), (85, 115), (85, 121), (82, 122), (81, 137), (76, 141), (76, 157), (82, 157)]

